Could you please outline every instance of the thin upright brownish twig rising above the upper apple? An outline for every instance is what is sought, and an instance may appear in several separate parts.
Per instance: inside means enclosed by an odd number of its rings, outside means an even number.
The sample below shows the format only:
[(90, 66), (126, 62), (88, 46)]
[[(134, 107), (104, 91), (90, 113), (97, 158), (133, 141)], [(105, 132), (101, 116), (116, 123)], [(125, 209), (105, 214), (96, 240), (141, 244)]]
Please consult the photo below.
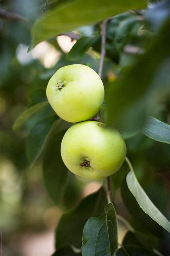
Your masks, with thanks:
[(105, 57), (105, 44), (106, 44), (106, 24), (107, 24), (107, 19), (103, 21), (101, 24), (101, 58), (100, 58), (100, 64), (99, 64), (99, 76), (101, 77), (102, 70), (103, 70), (103, 62), (104, 62), (104, 57)]

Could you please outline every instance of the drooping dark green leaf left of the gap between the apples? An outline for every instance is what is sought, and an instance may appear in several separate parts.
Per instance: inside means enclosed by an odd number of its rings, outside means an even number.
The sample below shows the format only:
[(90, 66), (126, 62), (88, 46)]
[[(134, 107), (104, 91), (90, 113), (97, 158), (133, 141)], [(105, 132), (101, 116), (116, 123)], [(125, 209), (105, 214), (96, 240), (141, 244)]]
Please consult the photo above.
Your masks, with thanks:
[(57, 116), (48, 117), (33, 126), (27, 138), (26, 152), (31, 166), (41, 154), (47, 139), (61, 121)]

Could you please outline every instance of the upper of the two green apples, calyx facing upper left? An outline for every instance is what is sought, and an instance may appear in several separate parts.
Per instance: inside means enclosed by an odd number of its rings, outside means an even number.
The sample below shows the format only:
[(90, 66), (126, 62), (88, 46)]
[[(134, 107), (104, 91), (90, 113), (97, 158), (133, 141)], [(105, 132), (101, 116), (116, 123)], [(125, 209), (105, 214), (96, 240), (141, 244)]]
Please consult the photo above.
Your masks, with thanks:
[[(63, 88), (57, 88), (57, 83)], [(74, 64), (62, 67), (48, 82), (46, 95), (63, 120), (81, 122), (95, 116), (104, 100), (104, 86), (91, 68)]]

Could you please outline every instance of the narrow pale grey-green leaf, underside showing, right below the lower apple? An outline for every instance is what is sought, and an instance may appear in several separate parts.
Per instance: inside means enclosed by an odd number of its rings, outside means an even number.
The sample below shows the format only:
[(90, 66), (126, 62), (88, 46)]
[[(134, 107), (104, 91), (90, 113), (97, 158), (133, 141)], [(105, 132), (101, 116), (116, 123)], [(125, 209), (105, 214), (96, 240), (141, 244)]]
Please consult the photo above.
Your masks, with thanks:
[(170, 222), (166, 217), (156, 208), (152, 203), (150, 198), (148, 198), (145, 191), (142, 189), (141, 185), (138, 183), (138, 180), (134, 173), (130, 171), (126, 176), (126, 181), (129, 190), (136, 198), (136, 201), (142, 208), (142, 210), (148, 214), (153, 220), (155, 220), (160, 226), (170, 232)]

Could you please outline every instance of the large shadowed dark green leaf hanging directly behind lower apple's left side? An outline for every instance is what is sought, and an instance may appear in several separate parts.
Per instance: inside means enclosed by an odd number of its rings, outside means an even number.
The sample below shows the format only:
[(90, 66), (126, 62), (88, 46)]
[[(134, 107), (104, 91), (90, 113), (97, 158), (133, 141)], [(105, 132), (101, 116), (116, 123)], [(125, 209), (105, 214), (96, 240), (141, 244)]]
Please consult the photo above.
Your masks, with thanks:
[[(56, 121), (56, 131), (44, 150), (43, 176), (48, 193), (55, 204), (70, 209), (80, 197), (81, 183), (77, 183), (75, 175), (67, 170), (60, 153), (61, 140), (72, 123), (59, 120)], [(56, 126), (55, 123), (53, 125)]]

